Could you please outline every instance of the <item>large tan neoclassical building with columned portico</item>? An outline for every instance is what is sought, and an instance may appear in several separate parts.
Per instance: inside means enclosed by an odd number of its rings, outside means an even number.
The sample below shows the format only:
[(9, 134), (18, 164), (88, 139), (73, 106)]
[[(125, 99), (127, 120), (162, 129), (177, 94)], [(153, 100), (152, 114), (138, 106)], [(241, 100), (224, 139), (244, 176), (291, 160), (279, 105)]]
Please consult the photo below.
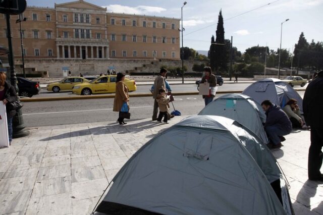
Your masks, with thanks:
[[(28, 7), (21, 22), (26, 60), (180, 60), (180, 19), (107, 12), (83, 0)], [(21, 59), (20, 28), (11, 16), (15, 59)], [(0, 46), (8, 47), (5, 15)]]

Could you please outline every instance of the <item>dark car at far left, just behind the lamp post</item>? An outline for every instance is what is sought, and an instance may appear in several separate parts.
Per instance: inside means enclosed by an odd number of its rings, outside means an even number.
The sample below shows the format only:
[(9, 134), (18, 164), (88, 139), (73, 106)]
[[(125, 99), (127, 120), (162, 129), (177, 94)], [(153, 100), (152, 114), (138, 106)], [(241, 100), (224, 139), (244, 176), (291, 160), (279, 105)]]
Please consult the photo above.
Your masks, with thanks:
[(19, 89), (19, 96), (31, 97), (40, 92), (39, 82), (31, 81), (26, 78), (17, 77), (17, 85)]

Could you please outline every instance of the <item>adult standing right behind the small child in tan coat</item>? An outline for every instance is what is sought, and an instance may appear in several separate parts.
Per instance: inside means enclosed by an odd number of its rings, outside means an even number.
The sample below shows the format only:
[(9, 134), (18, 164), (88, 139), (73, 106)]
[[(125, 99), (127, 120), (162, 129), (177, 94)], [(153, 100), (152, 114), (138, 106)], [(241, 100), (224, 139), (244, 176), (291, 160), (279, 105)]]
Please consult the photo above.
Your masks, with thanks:
[(153, 83), (152, 97), (154, 98), (154, 103), (153, 103), (152, 121), (157, 120), (158, 102), (156, 101), (156, 98), (159, 94), (159, 89), (164, 89), (166, 91), (166, 84), (165, 84), (166, 74), (167, 74), (167, 70), (165, 68), (161, 68), (158, 76), (155, 78), (155, 81)]

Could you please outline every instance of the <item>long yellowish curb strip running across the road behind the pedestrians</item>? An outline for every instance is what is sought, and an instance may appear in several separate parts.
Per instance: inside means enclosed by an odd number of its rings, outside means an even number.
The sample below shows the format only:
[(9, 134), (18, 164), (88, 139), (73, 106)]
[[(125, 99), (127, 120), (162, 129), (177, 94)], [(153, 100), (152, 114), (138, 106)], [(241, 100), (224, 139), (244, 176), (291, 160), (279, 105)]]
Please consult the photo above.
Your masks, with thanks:
[[(305, 89), (295, 89), (295, 91), (305, 91)], [(226, 93), (241, 93), (241, 90), (236, 91), (218, 91), (218, 94)], [(198, 95), (198, 92), (178, 92), (172, 93), (172, 95)], [(138, 93), (129, 94), (130, 97), (151, 97), (151, 93)], [(23, 102), (39, 102), (39, 101), (61, 101), (61, 100), (83, 100), (83, 99), (99, 99), (99, 98), (114, 98), (115, 94), (111, 95), (78, 95), (73, 97), (43, 97), (43, 98), (20, 98)]]

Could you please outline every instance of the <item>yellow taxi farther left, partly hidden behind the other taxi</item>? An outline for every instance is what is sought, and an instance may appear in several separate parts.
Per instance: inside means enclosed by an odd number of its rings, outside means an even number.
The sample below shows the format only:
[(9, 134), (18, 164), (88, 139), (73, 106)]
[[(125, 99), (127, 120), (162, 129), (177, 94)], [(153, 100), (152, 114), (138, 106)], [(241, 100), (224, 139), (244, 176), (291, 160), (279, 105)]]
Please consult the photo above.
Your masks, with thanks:
[(90, 80), (83, 77), (67, 77), (61, 81), (53, 82), (47, 85), (47, 91), (59, 92), (59, 91), (72, 91), (72, 88), (81, 83), (89, 82)]

